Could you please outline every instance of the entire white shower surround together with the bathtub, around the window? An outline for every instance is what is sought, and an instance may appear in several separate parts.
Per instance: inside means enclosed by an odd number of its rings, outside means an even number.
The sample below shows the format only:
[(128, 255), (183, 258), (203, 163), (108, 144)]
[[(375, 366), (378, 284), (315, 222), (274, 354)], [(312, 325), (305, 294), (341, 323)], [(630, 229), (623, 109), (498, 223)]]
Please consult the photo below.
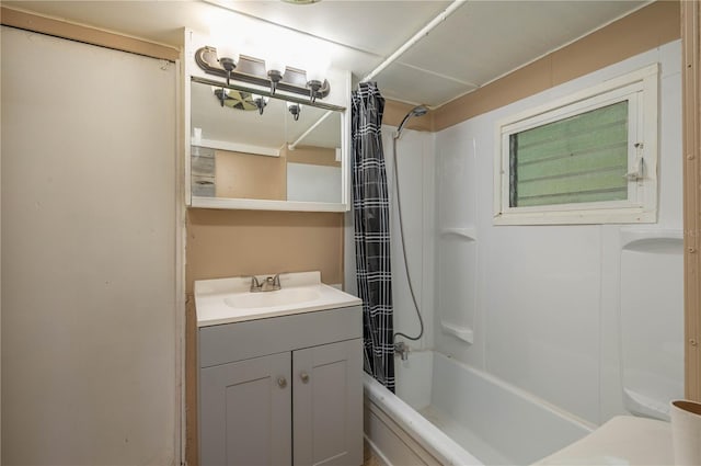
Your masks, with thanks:
[[(530, 464), (619, 414), (668, 419), (667, 401), (683, 394), (680, 52), (670, 42), (435, 135), (406, 132), (417, 140), (410, 156), (421, 145), (435, 156), (435, 178), (413, 178), (421, 183), (404, 192), (416, 202), (403, 205), (430, 329), (395, 360), (403, 402), (366, 383), (366, 435), (379, 457)], [(657, 221), (495, 226), (496, 122), (653, 64)], [(421, 173), (430, 157), (403, 157), (401, 168)], [(397, 292), (404, 277), (393, 279)], [(411, 332), (406, 293), (395, 303), (397, 328)], [(433, 427), (418, 429), (426, 420)]]

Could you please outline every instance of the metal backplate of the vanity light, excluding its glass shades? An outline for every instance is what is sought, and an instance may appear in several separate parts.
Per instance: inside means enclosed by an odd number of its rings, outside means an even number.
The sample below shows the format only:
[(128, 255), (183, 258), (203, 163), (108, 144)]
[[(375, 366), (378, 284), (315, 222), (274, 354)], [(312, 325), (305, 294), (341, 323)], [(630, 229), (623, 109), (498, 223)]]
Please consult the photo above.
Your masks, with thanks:
[[(272, 82), (265, 71), (265, 60), (246, 55), (240, 55), (235, 69), (227, 71), (217, 57), (217, 48), (204, 46), (195, 52), (195, 62), (208, 75), (222, 78), (229, 77), (234, 81), (243, 81), (250, 84), (263, 86), (269, 89)], [(309, 95), (310, 89), (307, 87), (307, 71), (303, 69), (287, 67), (281, 79), (275, 83), (277, 91), (292, 92), (300, 95)], [(331, 84), (324, 79), (319, 90), (314, 92), (315, 99), (324, 99), (331, 92)]]

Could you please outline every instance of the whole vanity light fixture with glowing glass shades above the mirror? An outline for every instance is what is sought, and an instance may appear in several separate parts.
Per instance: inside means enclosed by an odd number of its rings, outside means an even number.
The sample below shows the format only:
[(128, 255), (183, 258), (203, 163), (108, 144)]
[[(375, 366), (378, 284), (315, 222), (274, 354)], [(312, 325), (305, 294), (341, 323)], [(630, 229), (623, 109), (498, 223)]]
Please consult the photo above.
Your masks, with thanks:
[[(230, 53), (226, 53), (231, 56)], [(314, 71), (309, 69), (285, 66), (280, 59), (261, 58), (239, 55), (237, 58), (228, 58), (223, 52), (211, 46), (205, 46), (195, 52), (195, 62), (209, 75), (225, 77), (227, 86), (230, 80), (242, 81), (250, 84), (262, 86), (271, 89), (271, 95), (277, 91), (291, 92), (310, 98), (311, 102), (324, 99), (331, 92), (331, 84), (324, 78), (326, 69)]]

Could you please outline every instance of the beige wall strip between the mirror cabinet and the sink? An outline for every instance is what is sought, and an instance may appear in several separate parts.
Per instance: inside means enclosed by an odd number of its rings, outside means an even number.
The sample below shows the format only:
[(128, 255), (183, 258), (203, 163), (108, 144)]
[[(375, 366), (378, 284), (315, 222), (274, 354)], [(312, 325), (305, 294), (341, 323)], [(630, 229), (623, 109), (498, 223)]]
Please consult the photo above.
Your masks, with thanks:
[(187, 212), (188, 293), (195, 280), (311, 270), (343, 282), (343, 214)]

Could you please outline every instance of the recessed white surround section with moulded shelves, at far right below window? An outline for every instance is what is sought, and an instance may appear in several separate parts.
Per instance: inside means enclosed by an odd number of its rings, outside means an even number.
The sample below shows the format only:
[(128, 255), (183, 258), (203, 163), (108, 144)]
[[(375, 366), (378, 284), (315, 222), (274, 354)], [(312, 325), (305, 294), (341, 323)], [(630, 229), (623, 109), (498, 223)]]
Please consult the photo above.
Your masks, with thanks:
[(623, 405), (669, 420), (669, 400), (683, 398), (682, 234), (621, 231), (621, 248)]

